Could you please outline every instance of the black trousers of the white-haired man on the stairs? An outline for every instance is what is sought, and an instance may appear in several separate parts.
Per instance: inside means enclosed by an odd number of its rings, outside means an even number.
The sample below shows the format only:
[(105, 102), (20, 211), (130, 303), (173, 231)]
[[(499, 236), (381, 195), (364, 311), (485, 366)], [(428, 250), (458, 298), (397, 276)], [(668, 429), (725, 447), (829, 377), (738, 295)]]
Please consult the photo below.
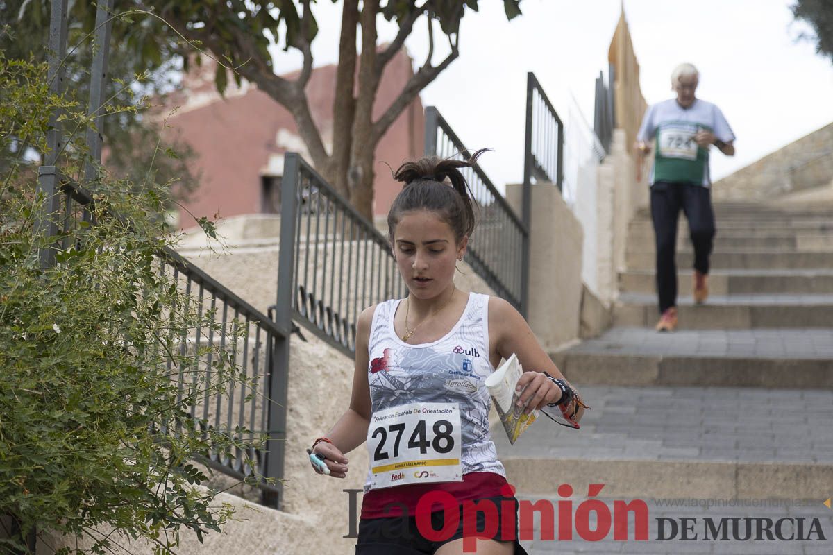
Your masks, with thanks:
[(656, 235), (656, 290), (660, 312), (676, 305), (676, 229), (680, 209), (686, 213), (694, 269), (709, 273), (709, 255), (715, 237), (715, 214), (711, 210), (711, 189), (700, 185), (656, 181), (651, 186), (651, 219)]

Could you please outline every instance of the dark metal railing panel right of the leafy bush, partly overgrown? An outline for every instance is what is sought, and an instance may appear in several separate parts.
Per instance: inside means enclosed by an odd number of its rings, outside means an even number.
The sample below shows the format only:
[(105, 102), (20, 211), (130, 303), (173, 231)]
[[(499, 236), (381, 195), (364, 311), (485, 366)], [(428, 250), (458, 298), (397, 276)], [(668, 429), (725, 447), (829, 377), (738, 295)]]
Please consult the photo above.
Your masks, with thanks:
[[(248, 430), (234, 433), (236, 439), (247, 444), (257, 444), (262, 436), (267, 439), (266, 444), (250, 447), (247, 453), (236, 448), (229, 456), (212, 450), (202, 462), (235, 478), (246, 478), (252, 473), (262, 478), (282, 478), (288, 365), (278, 355), (278, 349), (288, 342), (289, 330), (279, 327), (271, 314), (262, 314), (175, 251), (164, 249), (160, 260), (160, 271), (184, 291), (197, 315), (211, 319), (211, 325), (205, 329), (197, 325), (192, 334), (178, 338), (182, 354), (196, 353), (204, 344), (216, 348), (217, 353), (227, 353), (237, 370), (236, 379), (229, 380), (221, 392), (204, 394), (192, 404), (192, 418), (227, 434), (236, 429)], [(208, 350), (190, 369), (178, 369), (180, 395), (186, 386), (197, 389), (198, 380), (211, 382), (213, 353)], [(171, 359), (167, 360), (167, 369), (172, 372)], [(263, 490), (265, 503), (280, 506), (279, 485), (261, 481), (258, 487)]]

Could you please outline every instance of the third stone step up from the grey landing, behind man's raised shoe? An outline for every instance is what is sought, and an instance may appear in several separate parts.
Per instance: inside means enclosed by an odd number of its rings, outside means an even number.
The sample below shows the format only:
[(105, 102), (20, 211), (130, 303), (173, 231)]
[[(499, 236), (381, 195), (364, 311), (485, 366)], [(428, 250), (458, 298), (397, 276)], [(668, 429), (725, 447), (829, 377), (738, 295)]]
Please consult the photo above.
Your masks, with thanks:
[[(680, 271), (677, 290), (688, 294), (692, 272)], [(628, 270), (619, 274), (623, 293), (656, 293), (654, 270)], [(833, 270), (715, 270), (709, 275), (711, 295), (739, 293), (833, 293)]]

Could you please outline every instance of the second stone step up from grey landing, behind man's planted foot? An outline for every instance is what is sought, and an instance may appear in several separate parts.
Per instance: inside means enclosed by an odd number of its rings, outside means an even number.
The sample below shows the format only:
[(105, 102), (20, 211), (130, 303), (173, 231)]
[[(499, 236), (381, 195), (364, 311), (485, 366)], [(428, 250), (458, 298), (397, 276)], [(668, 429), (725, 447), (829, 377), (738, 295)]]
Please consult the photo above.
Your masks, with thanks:
[[(833, 295), (710, 295), (704, 305), (695, 305), (691, 295), (680, 295), (677, 308), (685, 330), (833, 325)], [(614, 305), (613, 325), (651, 327), (658, 316), (656, 295), (625, 293)]]

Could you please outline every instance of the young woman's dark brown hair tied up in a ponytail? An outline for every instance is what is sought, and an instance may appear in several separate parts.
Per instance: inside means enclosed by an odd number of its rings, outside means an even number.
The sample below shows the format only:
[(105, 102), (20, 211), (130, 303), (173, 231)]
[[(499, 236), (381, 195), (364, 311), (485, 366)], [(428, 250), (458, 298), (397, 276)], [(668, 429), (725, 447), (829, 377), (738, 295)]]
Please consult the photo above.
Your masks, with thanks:
[[(428, 156), (399, 166), (393, 178), (405, 186), (387, 213), (387, 234), (391, 244), (402, 214), (416, 210), (435, 212), (454, 231), (457, 242), (464, 235), (471, 237), (476, 224), (475, 204), (460, 168), (474, 166), (477, 158), (487, 150), (476, 151), (468, 160)], [(451, 186), (445, 183), (446, 178)]]

